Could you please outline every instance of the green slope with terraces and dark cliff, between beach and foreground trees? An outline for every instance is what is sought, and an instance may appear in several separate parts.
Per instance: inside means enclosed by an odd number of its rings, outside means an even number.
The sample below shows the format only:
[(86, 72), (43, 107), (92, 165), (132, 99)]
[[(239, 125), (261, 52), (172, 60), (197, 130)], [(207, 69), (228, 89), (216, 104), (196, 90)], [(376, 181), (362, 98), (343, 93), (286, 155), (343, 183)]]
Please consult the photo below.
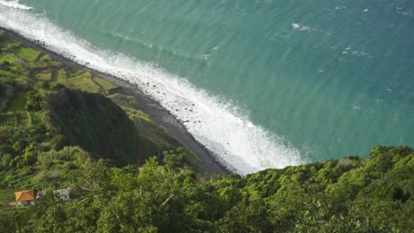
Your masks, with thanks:
[[(181, 147), (117, 86), (1, 31), (0, 49), (1, 205), (19, 190), (69, 185), (61, 175), (88, 158), (142, 165)], [(183, 154), (198, 167), (194, 154)]]

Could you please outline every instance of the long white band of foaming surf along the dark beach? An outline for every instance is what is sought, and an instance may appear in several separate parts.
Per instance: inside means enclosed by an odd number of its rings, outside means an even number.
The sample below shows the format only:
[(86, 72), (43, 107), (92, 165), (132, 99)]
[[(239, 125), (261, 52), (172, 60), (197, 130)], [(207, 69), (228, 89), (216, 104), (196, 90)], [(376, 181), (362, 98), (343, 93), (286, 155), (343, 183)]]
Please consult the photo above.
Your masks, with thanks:
[(305, 162), (288, 140), (252, 124), (237, 104), (211, 96), (156, 64), (98, 49), (33, 11), (0, 5), (0, 26), (30, 40), (45, 42), (47, 49), (65, 54), (74, 62), (136, 84), (180, 119), (196, 140), (240, 174)]

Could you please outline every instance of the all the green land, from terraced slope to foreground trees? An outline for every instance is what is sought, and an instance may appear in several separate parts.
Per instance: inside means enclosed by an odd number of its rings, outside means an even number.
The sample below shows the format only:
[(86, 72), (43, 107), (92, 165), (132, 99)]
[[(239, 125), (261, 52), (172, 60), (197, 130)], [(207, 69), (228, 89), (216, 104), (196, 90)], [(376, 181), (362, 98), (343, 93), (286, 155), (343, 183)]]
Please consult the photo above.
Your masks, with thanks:
[[(201, 174), (115, 86), (0, 39), (0, 231), (414, 230), (410, 147), (245, 177)], [(150, 153), (158, 156), (141, 166)], [(54, 199), (63, 187), (72, 201)], [(32, 207), (8, 205), (29, 188), (47, 194)]]

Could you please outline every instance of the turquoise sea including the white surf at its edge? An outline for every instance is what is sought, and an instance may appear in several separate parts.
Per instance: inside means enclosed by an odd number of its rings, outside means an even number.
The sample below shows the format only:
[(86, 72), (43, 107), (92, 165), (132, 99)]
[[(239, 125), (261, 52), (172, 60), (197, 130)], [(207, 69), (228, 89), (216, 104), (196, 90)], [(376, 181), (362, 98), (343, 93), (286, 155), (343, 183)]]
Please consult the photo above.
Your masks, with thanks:
[[(412, 1), (19, 3), (33, 9), (1, 6), (0, 12), (36, 15), (80, 44), (150, 64), (162, 71), (160, 80), (175, 77), (186, 84), (182, 88), (202, 92), (198, 99), (186, 91), (180, 96), (211, 113), (201, 122), (197, 117), (206, 114), (191, 118), (189, 132), (244, 172), (366, 156), (379, 144), (414, 146)], [(17, 29), (11, 21), (20, 19), (11, 18), (0, 25)], [(168, 93), (155, 98), (178, 108), (168, 103)], [(237, 120), (230, 130), (211, 130)], [(248, 165), (237, 163), (238, 154)]]

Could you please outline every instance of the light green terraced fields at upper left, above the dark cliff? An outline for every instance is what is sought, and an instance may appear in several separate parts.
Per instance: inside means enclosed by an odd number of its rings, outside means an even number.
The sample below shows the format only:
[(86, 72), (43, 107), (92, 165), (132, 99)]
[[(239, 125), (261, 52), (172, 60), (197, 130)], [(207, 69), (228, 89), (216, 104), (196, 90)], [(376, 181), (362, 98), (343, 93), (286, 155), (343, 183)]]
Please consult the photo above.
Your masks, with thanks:
[[(0, 31), (0, 86), (18, 84), (18, 88), (8, 89), (10, 101), (0, 100), (5, 101), (0, 104), (0, 124), (33, 124), (36, 116), (32, 116), (25, 108), (27, 86), (29, 83), (42, 82), (100, 94), (117, 87), (87, 71), (78, 71), (53, 61), (49, 55), (27, 48)], [(5, 90), (3, 94), (6, 94)], [(0, 97), (3, 94), (0, 93)]]

